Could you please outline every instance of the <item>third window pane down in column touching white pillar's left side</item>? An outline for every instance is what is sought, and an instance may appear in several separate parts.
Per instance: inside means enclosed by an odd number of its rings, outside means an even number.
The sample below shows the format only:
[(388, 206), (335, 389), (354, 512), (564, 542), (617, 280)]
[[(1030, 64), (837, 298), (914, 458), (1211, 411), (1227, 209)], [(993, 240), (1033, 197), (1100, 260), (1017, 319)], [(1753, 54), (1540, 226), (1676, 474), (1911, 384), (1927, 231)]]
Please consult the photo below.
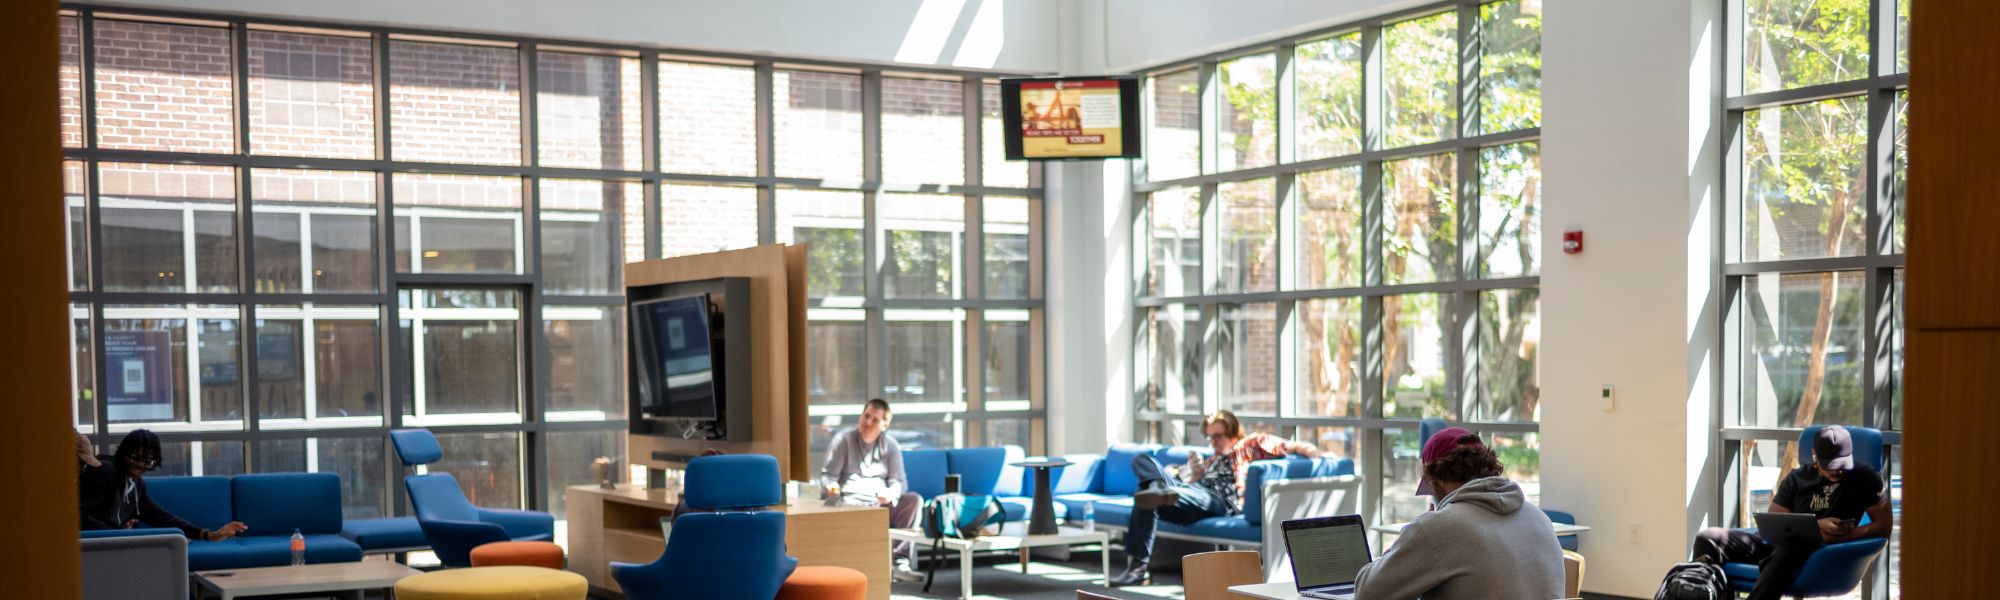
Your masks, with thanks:
[(1480, 420), (1542, 418), (1542, 314), (1540, 290), (1480, 292), (1480, 370), (1476, 416)]

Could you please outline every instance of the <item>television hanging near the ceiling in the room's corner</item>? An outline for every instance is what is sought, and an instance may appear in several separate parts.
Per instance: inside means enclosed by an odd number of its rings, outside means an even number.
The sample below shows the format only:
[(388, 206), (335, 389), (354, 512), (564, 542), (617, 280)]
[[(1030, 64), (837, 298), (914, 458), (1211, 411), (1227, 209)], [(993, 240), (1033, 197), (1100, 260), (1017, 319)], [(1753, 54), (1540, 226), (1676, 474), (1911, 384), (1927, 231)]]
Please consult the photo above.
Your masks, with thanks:
[(1138, 158), (1136, 78), (1000, 80), (1008, 160)]

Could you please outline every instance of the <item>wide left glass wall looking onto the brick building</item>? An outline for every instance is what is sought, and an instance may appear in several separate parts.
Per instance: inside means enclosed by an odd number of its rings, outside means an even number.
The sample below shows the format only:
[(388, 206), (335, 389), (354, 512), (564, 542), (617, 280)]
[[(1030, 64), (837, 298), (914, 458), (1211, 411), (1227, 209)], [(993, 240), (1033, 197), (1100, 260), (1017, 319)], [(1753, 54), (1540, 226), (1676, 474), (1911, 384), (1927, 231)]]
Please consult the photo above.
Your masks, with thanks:
[(816, 448), (1040, 450), (1040, 174), (998, 86), (654, 48), (226, 16), (62, 16), (76, 428), (166, 474), (338, 472), (386, 430), (482, 506), (624, 458), (628, 260), (808, 242)]

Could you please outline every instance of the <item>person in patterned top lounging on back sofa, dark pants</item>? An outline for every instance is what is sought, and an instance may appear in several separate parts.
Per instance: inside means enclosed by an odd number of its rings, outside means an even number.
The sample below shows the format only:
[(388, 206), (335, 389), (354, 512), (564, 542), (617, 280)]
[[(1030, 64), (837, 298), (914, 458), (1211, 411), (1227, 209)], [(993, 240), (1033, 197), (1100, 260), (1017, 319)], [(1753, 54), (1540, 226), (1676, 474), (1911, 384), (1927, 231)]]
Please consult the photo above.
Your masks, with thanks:
[(1272, 434), (1244, 436), (1234, 412), (1216, 410), (1202, 420), (1212, 456), (1188, 456), (1188, 468), (1174, 480), (1152, 454), (1132, 458), (1138, 494), (1132, 496), (1132, 526), (1126, 528), (1126, 570), (1112, 586), (1136, 586), (1152, 578), (1152, 538), (1158, 520), (1194, 524), (1210, 516), (1242, 514), (1244, 480), (1250, 462), (1288, 454), (1320, 456), (1320, 448)]

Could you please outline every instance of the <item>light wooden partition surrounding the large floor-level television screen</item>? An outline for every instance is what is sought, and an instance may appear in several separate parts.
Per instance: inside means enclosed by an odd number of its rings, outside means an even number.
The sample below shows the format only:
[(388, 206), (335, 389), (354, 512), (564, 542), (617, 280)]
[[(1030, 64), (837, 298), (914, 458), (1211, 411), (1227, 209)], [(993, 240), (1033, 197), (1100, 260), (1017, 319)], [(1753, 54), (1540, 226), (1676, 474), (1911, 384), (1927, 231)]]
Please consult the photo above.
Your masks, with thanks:
[(804, 246), (768, 244), (626, 264), (628, 288), (750, 278), (750, 442), (630, 436), (632, 464), (680, 468), (680, 464), (656, 460), (652, 454), (696, 456), (716, 448), (730, 454), (770, 454), (778, 458), (778, 472), (794, 480), (806, 478), (806, 394), (804, 388), (794, 390), (792, 386), (794, 376), (804, 378), (806, 364), (804, 262)]

